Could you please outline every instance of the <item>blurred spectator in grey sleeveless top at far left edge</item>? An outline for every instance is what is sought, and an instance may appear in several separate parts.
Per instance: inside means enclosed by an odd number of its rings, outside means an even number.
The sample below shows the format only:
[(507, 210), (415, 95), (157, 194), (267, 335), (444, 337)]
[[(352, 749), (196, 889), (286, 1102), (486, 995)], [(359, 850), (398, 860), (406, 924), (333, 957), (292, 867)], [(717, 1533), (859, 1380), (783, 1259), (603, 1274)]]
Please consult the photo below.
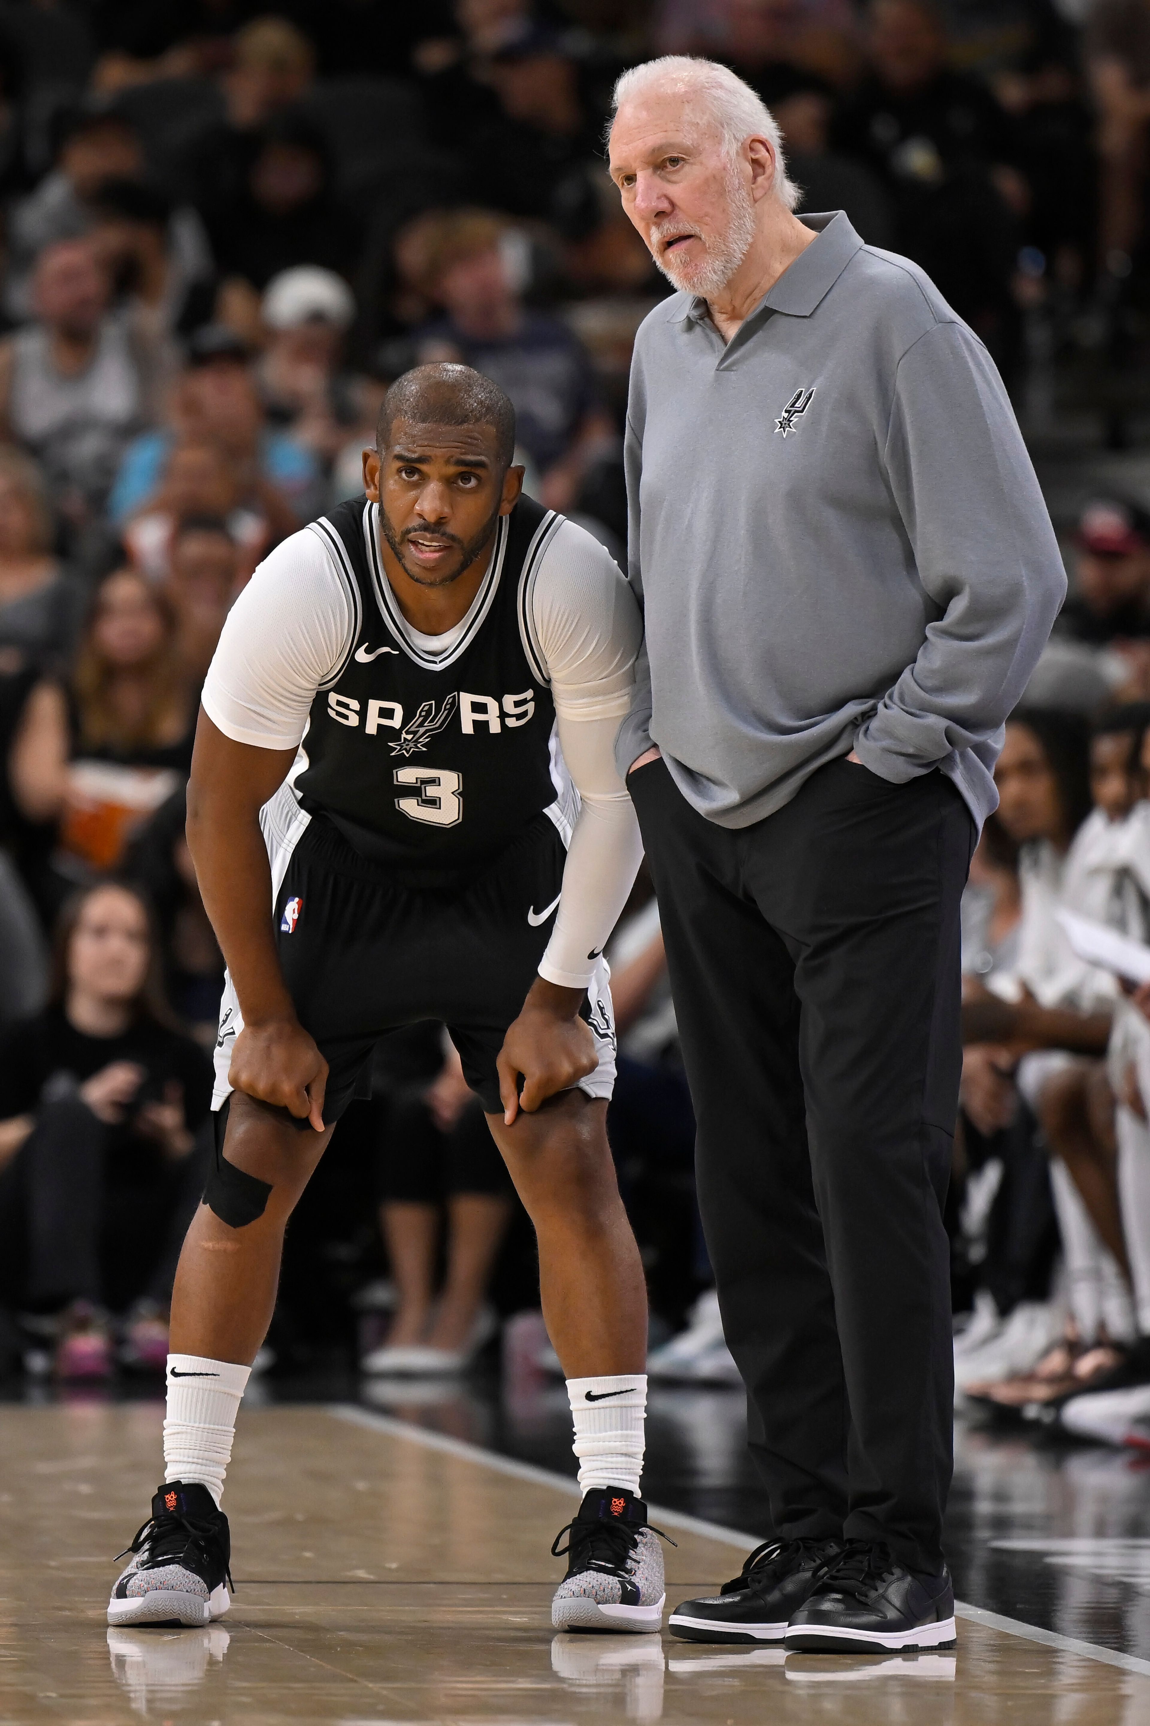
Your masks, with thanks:
[(0, 340), (0, 430), (43, 464), (74, 525), (103, 507), (121, 456), (157, 411), (162, 357), (109, 314), (88, 240), (60, 240), (33, 274), (36, 323)]

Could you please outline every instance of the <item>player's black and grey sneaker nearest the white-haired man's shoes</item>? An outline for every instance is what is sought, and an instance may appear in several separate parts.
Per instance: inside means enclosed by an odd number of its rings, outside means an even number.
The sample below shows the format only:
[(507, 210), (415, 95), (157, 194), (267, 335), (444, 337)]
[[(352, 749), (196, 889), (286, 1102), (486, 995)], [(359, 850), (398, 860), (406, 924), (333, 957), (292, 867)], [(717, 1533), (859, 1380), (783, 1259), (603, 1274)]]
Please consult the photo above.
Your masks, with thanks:
[[(564, 1534), (569, 1540), (560, 1546)], [(660, 1629), (667, 1597), (657, 1534), (647, 1505), (626, 1486), (591, 1488), (552, 1545), (553, 1557), (567, 1559), (552, 1600), (555, 1629)]]

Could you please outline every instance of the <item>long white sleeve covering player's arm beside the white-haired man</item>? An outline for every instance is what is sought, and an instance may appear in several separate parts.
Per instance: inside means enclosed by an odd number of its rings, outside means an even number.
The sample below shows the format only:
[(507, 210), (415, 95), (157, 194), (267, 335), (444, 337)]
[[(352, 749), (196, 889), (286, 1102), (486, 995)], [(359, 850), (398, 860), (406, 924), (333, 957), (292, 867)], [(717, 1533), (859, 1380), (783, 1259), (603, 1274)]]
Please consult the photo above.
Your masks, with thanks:
[(584, 989), (643, 858), (634, 808), (616, 766), (616, 735), (631, 708), (643, 625), (614, 559), (574, 521), (564, 521), (543, 556), (531, 611), (559, 742), (581, 799), (540, 977)]

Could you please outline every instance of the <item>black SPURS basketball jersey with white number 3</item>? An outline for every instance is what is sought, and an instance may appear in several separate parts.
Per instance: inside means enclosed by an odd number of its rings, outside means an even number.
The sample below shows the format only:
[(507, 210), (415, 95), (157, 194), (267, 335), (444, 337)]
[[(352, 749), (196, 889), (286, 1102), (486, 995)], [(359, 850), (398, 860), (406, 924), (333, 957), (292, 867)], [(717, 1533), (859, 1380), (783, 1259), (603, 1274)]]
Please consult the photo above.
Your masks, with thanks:
[(364, 856), (412, 885), (467, 879), (543, 811), (569, 828), (574, 794), (533, 640), (531, 585), (562, 516), (522, 497), (448, 652), (412, 642), (364, 497), (310, 523), (353, 613), (343, 663), (317, 690), (293, 782)]

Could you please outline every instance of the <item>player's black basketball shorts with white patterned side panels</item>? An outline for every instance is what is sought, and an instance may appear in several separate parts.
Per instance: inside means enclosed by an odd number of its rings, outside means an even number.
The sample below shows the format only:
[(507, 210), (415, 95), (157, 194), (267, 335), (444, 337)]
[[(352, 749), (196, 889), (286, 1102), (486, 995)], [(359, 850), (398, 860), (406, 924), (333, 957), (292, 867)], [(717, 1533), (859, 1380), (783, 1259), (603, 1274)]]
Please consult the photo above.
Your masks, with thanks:
[[(488, 1113), (500, 1113), (495, 1058), (517, 1018), (547, 948), (566, 846), (540, 815), (455, 896), (414, 892), (362, 858), (322, 815), (291, 799), (264, 811), (272, 866), (276, 946), (300, 1024), (328, 1061), (324, 1120), (366, 1094), (376, 1044), (400, 1025), (438, 1018), (459, 1049), (464, 1075)], [(293, 813), (291, 813), (293, 811)], [(609, 970), (595, 968), (583, 1015), (598, 1067), (579, 1089), (609, 1098), (616, 1079), (616, 1027)], [(243, 1029), (224, 980), (216, 1041), (219, 1108)]]

